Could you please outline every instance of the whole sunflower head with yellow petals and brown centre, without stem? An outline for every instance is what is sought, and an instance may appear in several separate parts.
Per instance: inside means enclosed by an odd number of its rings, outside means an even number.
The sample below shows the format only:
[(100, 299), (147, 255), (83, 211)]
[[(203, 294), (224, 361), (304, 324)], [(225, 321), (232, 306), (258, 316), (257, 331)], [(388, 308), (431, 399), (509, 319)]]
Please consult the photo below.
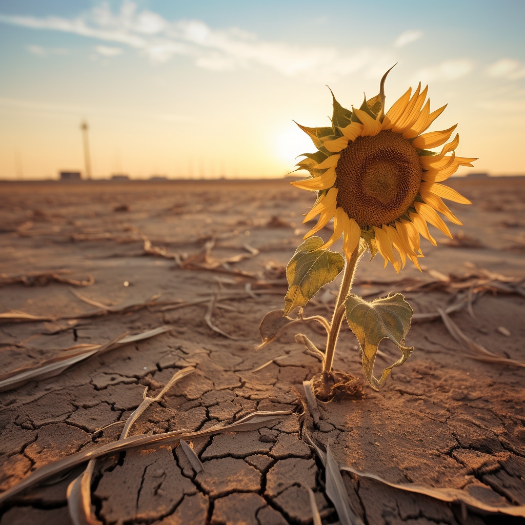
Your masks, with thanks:
[[(319, 219), (305, 239), (333, 218), (333, 235), (322, 248), (343, 236), (349, 259), (363, 239), (372, 256), (379, 251), (385, 267), (390, 261), (399, 272), (408, 259), (421, 270), (419, 236), (436, 245), (428, 224), (451, 237), (437, 212), (461, 224), (443, 199), (470, 204), (441, 183), (459, 166), (472, 166), (476, 159), (456, 156), (458, 134), (447, 142), (457, 124), (424, 133), (446, 106), (431, 113), (430, 100), (425, 102), (428, 88), (421, 91), (421, 83), (413, 94), (409, 88), (384, 114), (385, 78), (386, 74), (380, 94), (370, 100), (365, 97), (360, 109), (345, 109), (333, 97), (332, 127), (299, 125), (318, 151), (304, 154), (306, 159), (297, 164), (298, 170), (308, 170), (311, 177), (291, 184), (318, 192), (304, 222), (317, 215)], [(439, 146), (439, 153), (430, 151)]]

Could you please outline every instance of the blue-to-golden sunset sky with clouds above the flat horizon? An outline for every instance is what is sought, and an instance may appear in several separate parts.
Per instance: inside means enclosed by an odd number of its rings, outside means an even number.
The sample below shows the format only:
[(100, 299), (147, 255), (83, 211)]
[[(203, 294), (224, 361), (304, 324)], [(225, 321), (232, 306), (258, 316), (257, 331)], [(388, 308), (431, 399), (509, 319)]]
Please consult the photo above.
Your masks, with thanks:
[[(388, 75), (458, 123), (458, 175), (525, 173), (522, 0), (0, 0), (0, 179), (282, 177)], [(294, 122), (295, 121), (295, 122)], [(306, 172), (302, 172), (306, 174)]]

